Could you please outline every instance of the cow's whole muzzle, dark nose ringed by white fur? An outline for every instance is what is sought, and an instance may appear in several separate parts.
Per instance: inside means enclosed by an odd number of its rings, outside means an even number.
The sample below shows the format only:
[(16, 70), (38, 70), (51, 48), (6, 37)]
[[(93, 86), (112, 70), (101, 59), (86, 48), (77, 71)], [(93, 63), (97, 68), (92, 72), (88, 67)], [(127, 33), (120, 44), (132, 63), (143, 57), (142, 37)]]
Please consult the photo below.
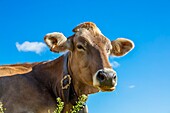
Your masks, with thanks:
[(93, 85), (101, 91), (113, 91), (117, 85), (116, 72), (113, 69), (100, 69), (93, 77)]

